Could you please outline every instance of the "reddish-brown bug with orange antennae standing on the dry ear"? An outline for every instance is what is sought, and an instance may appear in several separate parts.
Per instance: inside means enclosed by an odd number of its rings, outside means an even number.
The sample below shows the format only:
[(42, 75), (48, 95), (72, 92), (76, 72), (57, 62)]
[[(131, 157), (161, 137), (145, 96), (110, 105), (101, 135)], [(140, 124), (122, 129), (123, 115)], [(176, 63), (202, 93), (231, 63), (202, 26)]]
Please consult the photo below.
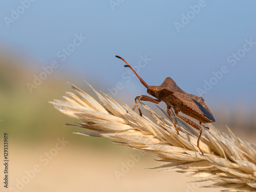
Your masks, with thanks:
[[(134, 71), (134, 69), (122, 57), (117, 56), (117, 55), (116, 55), (116, 57), (119, 59), (122, 59), (127, 64), (124, 67), (129, 67), (129, 68), (131, 68), (131, 70), (133, 70), (133, 72), (139, 78), (140, 82), (147, 89), (147, 93), (149, 95), (152, 95), (153, 97), (157, 98), (157, 99), (154, 99), (147, 95), (138, 96), (135, 98), (135, 106), (134, 106), (133, 110), (135, 110), (135, 108), (137, 106), (140, 116), (142, 116), (141, 110), (138, 106), (138, 102), (140, 100), (141, 101), (151, 101), (151, 102), (157, 103), (157, 104), (161, 101), (165, 102), (167, 105), (167, 114), (169, 115), (170, 119), (172, 119), (178, 135), (179, 135), (179, 131), (174, 122), (173, 114), (170, 111), (170, 108), (174, 109), (176, 116), (178, 116), (183, 121), (185, 121), (189, 125), (195, 127), (195, 129), (200, 131), (200, 134), (199, 134), (199, 137), (197, 140), (197, 146), (198, 146), (199, 151), (202, 154), (204, 154), (199, 146), (199, 141), (202, 136), (201, 126), (196, 124), (194, 121), (191, 121), (190, 119), (178, 114), (179, 112), (182, 112), (190, 117), (193, 117), (194, 119), (197, 119), (199, 121), (200, 125), (202, 125), (202, 123), (215, 122), (214, 116), (210, 112), (208, 106), (204, 103), (204, 98), (184, 92), (182, 89), (180, 89), (177, 86), (175, 81), (170, 77), (167, 77), (160, 86), (148, 86), (147, 83)], [(205, 126), (205, 127), (207, 129), (209, 129), (207, 126)]]

